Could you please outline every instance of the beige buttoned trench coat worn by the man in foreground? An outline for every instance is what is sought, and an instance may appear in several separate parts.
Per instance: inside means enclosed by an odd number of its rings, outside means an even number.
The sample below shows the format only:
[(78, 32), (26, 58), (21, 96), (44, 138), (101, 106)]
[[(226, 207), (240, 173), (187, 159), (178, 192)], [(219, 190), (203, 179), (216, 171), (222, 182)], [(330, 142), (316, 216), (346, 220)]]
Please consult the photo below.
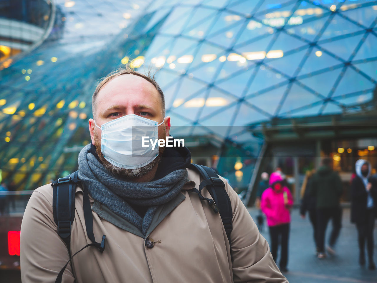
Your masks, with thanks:
[[(233, 209), (231, 263), (228, 239), (219, 213), (207, 202), (187, 191), (200, 184), (200, 175), (187, 169), (189, 182), (182, 193), (156, 211), (146, 237), (132, 224), (112, 213), (92, 198), (93, 232), (100, 242), (106, 235), (101, 254), (88, 247), (72, 259), (63, 282), (271, 282), (285, 283), (261, 234), (239, 199), (226, 184)], [(211, 198), (206, 189), (205, 197)], [(83, 191), (76, 189), (75, 220), (72, 224), (71, 252), (88, 243), (83, 214)], [(155, 245), (147, 248), (145, 240)], [(36, 189), (26, 207), (21, 225), (22, 282), (55, 282), (69, 259), (68, 250), (57, 234), (52, 213), (51, 184)]]

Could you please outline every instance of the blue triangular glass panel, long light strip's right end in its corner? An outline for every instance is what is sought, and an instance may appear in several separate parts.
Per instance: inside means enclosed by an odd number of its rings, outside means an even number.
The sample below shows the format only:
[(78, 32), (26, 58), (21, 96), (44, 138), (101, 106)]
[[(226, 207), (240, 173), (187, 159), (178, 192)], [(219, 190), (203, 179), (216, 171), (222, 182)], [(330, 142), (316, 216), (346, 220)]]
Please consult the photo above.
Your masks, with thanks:
[[(274, 53), (270, 53), (274, 52)], [(276, 69), (278, 72), (281, 72), (283, 74), (286, 74), (288, 76), (293, 76), (296, 72), (298, 73), (297, 66), (301, 62), (304, 55), (307, 53), (306, 50), (302, 50), (290, 55), (284, 55), (283, 52), (279, 51), (270, 51), (268, 54), (272, 54), (271, 56), (281, 56), (281, 58), (266, 58), (264, 60), (264, 63), (268, 65), (269, 67), (272, 67)], [(292, 64), (292, 62), (297, 62), (296, 64)]]

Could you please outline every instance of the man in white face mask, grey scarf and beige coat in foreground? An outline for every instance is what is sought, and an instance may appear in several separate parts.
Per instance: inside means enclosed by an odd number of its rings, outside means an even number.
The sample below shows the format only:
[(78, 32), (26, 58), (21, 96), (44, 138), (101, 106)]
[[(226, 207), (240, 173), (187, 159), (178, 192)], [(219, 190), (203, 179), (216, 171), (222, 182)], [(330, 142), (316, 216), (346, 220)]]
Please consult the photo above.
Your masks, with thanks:
[[(98, 84), (92, 109), (92, 143), (78, 156), (83, 185), (76, 187), (70, 245), (57, 234), (51, 184), (36, 189), (21, 226), (23, 282), (54, 282), (66, 263), (62, 282), (288, 282), (224, 178), (231, 245), (219, 213), (189, 191), (203, 180), (188, 168), (190, 151), (141, 146), (143, 136), (170, 135), (164, 94), (153, 77), (131, 69), (110, 74)], [(86, 191), (94, 237), (106, 235), (102, 253), (92, 246), (77, 253), (91, 240)], [(211, 197), (206, 188), (201, 192)]]

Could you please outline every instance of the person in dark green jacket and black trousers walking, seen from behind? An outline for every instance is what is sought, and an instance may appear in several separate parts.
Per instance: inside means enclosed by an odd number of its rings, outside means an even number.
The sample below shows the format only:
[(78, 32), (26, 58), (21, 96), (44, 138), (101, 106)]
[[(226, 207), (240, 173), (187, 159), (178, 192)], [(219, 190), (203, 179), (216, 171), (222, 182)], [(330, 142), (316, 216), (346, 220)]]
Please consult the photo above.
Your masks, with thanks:
[(326, 247), (329, 254), (335, 254), (334, 246), (342, 227), (342, 181), (339, 174), (331, 169), (331, 162), (330, 158), (323, 159), (322, 166), (313, 175), (309, 188), (309, 194), (316, 200), (318, 258), (326, 257), (325, 233), (328, 221), (331, 219), (333, 223), (329, 246)]

